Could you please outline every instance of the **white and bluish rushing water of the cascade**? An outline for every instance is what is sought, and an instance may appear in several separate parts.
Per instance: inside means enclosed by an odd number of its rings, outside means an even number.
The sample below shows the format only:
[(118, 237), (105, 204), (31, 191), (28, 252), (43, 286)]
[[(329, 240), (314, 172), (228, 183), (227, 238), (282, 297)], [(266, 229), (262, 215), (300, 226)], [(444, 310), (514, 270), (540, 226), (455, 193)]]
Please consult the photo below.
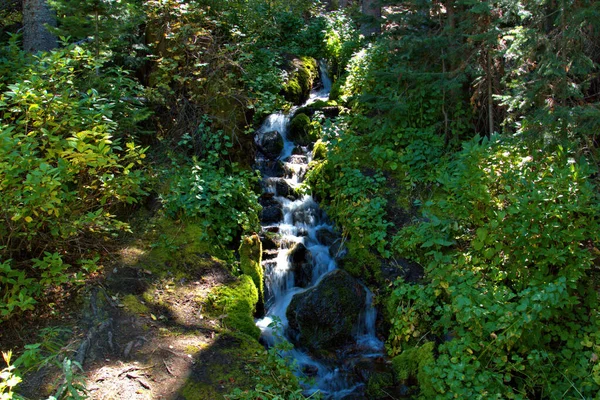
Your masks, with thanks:
[[(331, 90), (331, 81), (326, 74), (324, 64), (320, 64), (322, 88), (311, 93), (308, 101), (303, 105), (309, 105), (317, 100), (328, 100)], [(307, 159), (309, 149), (302, 148), (301, 155), (292, 155), (296, 145), (288, 138), (288, 125), (293, 109), (290, 114), (276, 113), (270, 115), (261, 128), (258, 130), (258, 140), (261, 135), (276, 130), (283, 138), (283, 150), (278, 160), (283, 162), (284, 170), (287, 171), (284, 179), (293, 188), (302, 183), (302, 178), (307, 169)], [(298, 153), (298, 151), (296, 151)], [(257, 164), (266, 162), (266, 160), (257, 160)], [(294, 295), (310, 289), (319, 283), (319, 281), (329, 272), (337, 268), (334, 258), (331, 257), (329, 247), (320, 243), (317, 239), (319, 229), (328, 229), (333, 231), (334, 227), (329, 224), (326, 216), (319, 208), (312, 196), (305, 195), (296, 200), (290, 200), (277, 193), (273, 179), (268, 175), (264, 177), (265, 191), (274, 194), (274, 199), (281, 204), (283, 209), (283, 220), (276, 226), (281, 236), (281, 246), (278, 249), (274, 260), (269, 260), (265, 268), (265, 287), (268, 298), (266, 299), (267, 312), (264, 318), (258, 320), (256, 325), (262, 331), (262, 337), (265, 342), (272, 345), (276, 338), (269, 325), (275, 320), (281, 321), (283, 332), (288, 327), (286, 310)], [(273, 225), (271, 225), (272, 227)], [(312, 277), (308, 288), (295, 286), (294, 271), (291, 269), (290, 252), (294, 245), (302, 243), (311, 254)], [(373, 307), (373, 295), (365, 287), (367, 292), (366, 307), (361, 312), (360, 318), (356, 321), (354, 329), (356, 345), (362, 351), (362, 357), (377, 357), (382, 355), (383, 343), (377, 338), (375, 333), (376, 310)], [(292, 350), (289, 354), (298, 365), (298, 374), (302, 375), (307, 368), (316, 371), (314, 376), (315, 387), (307, 388), (307, 393), (313, 393), (317, 390), (324, 393), (327, 397), (339, 399), (346, 396), (362, 383), (353, 382), (349, 379), (348, 371), (343, 371), (331, 365), (325, 365), (322, 362), (312, 359), (308, 354), (299, 349)]]

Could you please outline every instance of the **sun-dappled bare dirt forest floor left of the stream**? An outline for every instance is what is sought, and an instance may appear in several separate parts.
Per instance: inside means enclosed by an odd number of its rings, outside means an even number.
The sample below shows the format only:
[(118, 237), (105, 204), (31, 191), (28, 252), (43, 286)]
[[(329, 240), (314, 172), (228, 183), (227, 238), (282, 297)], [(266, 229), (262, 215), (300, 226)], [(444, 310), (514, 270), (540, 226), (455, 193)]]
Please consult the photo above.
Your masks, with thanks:
[[(197, 227), (148, 221), (53, 313), (0, 334), (2, 348), (31, 343), (42, 327), (70, 332), (61, 347), (83, 365), (73, 382), (84, 383), (91, 399), (216, 399), (253, 387), (249, 370), (264, 362), (265, 350), (227, 326), (220, 309), (219, 288), (238, 280), (230, 264), (199, 241)], [(49, 365), (25, 377), (23, 396), (56, 393), (64, 374)]]

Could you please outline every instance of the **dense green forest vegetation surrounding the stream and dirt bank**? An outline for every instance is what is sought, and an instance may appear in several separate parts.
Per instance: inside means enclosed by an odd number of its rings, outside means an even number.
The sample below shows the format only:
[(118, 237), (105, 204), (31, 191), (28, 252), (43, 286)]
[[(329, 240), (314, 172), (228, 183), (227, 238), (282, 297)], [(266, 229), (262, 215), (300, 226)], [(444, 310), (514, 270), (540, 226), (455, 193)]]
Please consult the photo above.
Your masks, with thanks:
[[(0, 10), (0, 323), (84, 284), (156, 197), (237, 248), (258, 229), (253, 128), (321, 58), (341, 113), (302, 114), (307, 190), (385, 310), (396, 378), (422, 398), (598, 395), (600, 4), (386, 0), (365, 37), (357, 7), (312, 0), (53, 0), (62, 42), (30, 54), (17, 3)], [(234, 398), (302, 398), (269, 359), (256, 372), (278, 384)]]

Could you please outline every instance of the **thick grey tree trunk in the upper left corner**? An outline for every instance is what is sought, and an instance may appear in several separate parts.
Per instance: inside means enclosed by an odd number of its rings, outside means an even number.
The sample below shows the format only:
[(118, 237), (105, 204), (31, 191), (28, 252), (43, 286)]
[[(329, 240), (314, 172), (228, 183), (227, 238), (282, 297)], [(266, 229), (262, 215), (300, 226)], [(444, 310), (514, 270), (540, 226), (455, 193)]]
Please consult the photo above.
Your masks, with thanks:
[(56, 26), (54, 12), (45, 0), (23, 0), (23, 48), (35, 53), (56, 48), (56, 37), (46, 29)]

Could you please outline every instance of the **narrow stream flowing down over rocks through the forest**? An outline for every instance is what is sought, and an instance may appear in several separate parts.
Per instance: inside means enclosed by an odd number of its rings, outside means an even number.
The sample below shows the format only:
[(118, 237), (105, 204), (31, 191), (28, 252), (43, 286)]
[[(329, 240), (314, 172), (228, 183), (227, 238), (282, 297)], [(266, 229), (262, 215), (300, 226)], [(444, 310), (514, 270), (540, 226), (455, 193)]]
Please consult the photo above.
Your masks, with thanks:
[[(323, 63), (320, 63), (321, 87), (313, 90), (309, 100), (302, 105), (305, 107), (318, 100), (328, 100), (331, 81), (326, 73)], [(263, 231), (275, 232), (279, 236), (279, 246), (266, 252), (263, 256), (265, 269), (265, 303), (266, 314), (256, 324), (262, 331), (262, 339), (268, 344), (273, 344), (277, 338), (269, 325), (276, 319), (281, 321), (284, 335), (287, 335), (288, 320), (286, 310), (294, 295), (317, 285), (324, 276), (337, 268), (335, 258), (330, 246), (323, 243), (323, 236), (319, 232), (329, 232), (335, 235), (334, 227), (327, 216), (319, 208), (315, 199), (310, 195), (290, 196), (290, 188), (296, 189), (304, 178), (308, 163), (311, 161), (310, 146), (296, 145), (288, 138), (288, 127), (291, 117), (297, 109), (292, 109), (288, 114), (275, 113), (270, 115), (257, 132), (257, 141), (261, 143), (264, 135), (276, 131), (283, 138), (283, 148), (278, 157), (273, 160), (259, 153), (256, 164), (263, 173), (263, 188), (275, 209), (274, 216), (267, 221), (263, 219)], [(264, 152), (263, 152), (264, 153)], [(305, 287), (299, 287), (298, 271), (292, 267), (292, 251), (302, 244), (308, 257), (311, 268), (309, 282)], [(335, 254), (334, 254), (335, 255)], [(363, 285), (364, 286), (364, 285)], [(314, 378), (314, 386), (307, 387), (306, 393), (321, 391), (326, 398), (343, 399), (353, 393), (364, 390), (365, 382), (357, 378), (356, 369), (358, 360), (365, 358), (375, 359), (383, 356), (383, 343), (375, 334), (376, 311), (372, 306), (372, 294), (364, 287), (366, 307), (355, 322), (355, 344), (351, 350), (336, 350), (341, 357), (338, 362), (325, 362), (311, 358), (301, 349), (294, 349), (290, 356), (296, 360), (297, 373)], [(339, 365), (339, 359), (346, 360)], [(354, 359), (356, 362), (348, 362)], [(360, 375), (360, 373), (358, 374)]]

